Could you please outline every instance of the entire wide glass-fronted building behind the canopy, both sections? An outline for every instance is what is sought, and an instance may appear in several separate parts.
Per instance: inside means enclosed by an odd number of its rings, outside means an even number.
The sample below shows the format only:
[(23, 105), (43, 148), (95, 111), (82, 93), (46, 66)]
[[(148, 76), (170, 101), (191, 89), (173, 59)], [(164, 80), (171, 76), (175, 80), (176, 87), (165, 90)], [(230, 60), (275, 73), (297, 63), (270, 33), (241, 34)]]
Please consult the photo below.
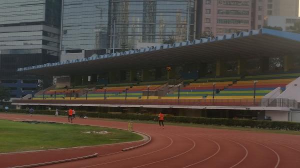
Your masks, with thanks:
[(63, 0), (62, 13), (61, 50), (111, 49), (113, 17), (116, 51), (194, 36), (194, 0)]

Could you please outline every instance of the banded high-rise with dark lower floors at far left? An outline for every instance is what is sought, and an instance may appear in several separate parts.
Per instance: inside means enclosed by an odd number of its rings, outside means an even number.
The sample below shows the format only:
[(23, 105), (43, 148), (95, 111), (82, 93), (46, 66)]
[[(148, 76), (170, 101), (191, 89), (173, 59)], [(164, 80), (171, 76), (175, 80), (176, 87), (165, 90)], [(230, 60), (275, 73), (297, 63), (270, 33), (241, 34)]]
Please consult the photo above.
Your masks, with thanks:
[(60, 0), (0, 0), (0, 81), (12, 98), (38, 86), (17, 68), (58, 61), (60, 15)]

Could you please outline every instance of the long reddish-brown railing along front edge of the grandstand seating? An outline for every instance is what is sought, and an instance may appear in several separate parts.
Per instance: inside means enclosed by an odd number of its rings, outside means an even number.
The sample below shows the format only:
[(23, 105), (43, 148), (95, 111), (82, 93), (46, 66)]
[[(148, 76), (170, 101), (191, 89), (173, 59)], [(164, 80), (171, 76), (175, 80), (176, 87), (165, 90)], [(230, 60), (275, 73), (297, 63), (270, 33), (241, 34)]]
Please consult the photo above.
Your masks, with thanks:
[(298, 103), (293, 99), (13, 100), (13, 103), (298, 108)]

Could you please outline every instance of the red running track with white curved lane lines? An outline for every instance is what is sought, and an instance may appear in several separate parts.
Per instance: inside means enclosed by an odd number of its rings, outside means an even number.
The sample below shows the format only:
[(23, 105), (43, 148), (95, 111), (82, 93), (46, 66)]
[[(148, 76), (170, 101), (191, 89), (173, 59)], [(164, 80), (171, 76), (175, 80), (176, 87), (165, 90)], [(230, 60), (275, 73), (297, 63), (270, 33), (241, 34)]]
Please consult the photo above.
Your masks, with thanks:
[[(0, 114), (0, 119), (66, 122), (64, 117)], [(75, 119), (86, 124), (126, 129), (126, 122)], [(166, 123), (167, 124), (167, 123)], [(100, 156), (42, 168), (300, 168), (300, 136), (134, 123), (133, 129), (151, 136), (142, 142), (0, 155), (0, 168), (41, 163), (98, 153)]]

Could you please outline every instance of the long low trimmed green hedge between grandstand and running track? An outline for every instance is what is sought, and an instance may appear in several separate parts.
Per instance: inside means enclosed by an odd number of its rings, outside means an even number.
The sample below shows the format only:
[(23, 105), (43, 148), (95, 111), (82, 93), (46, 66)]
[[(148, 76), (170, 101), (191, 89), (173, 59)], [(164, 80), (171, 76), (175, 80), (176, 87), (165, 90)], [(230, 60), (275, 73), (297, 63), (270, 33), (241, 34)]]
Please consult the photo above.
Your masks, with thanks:
[[(14, 113), (26, 113), (25, 110), (9, 110)], [(34, 114), (54, 115), (55, 110), (35, 110)], [(84, 115), (94, 118), (109, 118), (121, 120), (142, 120), (142, 121), (157, 121), (158, 117), (150, 114), (121, 114), (121, 113), (97, 113), (97, 112), (82, 112), (76, 111), (76, 115)], [(65, 112), (59, 111), (59, 115), (65, 115)], [(241, 120), (241, 119), (216, 119), (203, 117), (184, 117), (184, 116), (165, 116), (165, 122), (173, 123), (193, 123), (204, 125), (217, 125), (229, 127), (250, 127), (259, 129), (276, 129), (300, 131), (300, 123), (282, 122), (282, 121), (264, 121), (264, 120)]]

